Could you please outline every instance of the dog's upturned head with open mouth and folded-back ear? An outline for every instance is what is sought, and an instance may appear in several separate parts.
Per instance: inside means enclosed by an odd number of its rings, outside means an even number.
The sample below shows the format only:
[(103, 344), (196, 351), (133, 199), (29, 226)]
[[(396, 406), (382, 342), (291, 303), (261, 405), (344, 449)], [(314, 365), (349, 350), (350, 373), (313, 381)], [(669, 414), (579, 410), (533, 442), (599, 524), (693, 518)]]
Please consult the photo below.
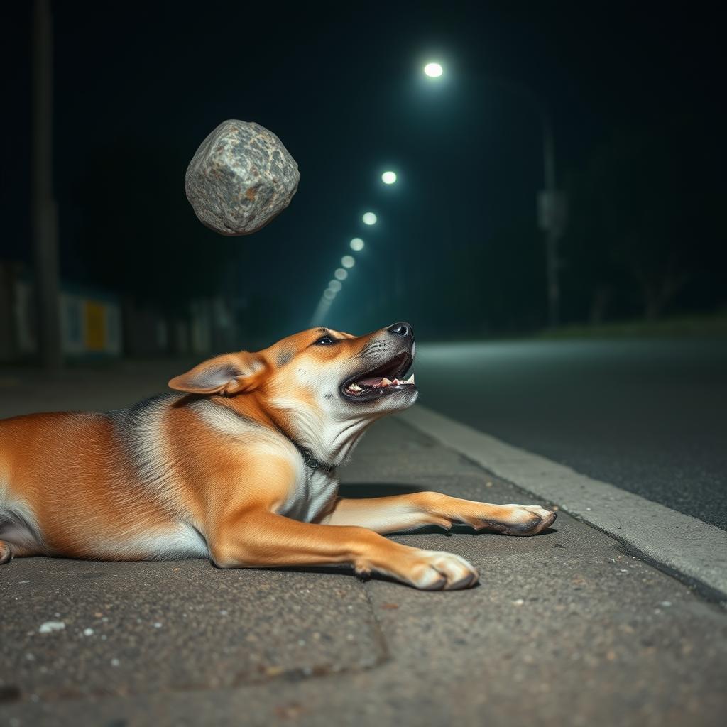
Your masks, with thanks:
[(217, 356), (175, 377), (169, 386), (222, 395), (241, 406), (246, 395), (253, 395), (266, 411), (284, 417), (286, 430), (298, 441), (322, 443), (346, 427), (357, 431), (356, 424), (416, 401), (414, 377), (406, 378), (415, 348), (407, 323), (358, 337), (316, 328), (256, 353)]

